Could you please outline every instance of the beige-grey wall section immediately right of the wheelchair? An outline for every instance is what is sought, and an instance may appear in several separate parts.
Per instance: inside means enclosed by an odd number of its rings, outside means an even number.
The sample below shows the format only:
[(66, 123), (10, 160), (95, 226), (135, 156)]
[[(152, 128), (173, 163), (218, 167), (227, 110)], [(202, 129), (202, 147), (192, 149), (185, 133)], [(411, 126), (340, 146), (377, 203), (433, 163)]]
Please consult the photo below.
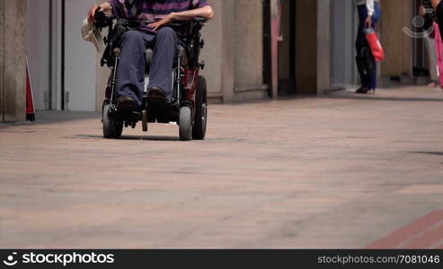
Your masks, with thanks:
[[(207, 46), (201, 72), (208, 80), (211, 100), (263, 98), (262, 1), (211, 0), (215, 19), (202, 31)], [(241, 25), (242, 27), (238, 27)]]

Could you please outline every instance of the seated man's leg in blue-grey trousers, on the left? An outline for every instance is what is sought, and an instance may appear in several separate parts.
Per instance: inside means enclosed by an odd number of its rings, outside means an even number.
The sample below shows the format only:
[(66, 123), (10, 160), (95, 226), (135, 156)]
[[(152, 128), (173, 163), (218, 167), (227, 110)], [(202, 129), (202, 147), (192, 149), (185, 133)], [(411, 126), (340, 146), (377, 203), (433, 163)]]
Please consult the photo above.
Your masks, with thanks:
[(141, 106), (145, 83), (145, 52), (153, 35), (128, 30), (121, 39), (120, 64), (117, 72), (117, 98), (130, 98)]

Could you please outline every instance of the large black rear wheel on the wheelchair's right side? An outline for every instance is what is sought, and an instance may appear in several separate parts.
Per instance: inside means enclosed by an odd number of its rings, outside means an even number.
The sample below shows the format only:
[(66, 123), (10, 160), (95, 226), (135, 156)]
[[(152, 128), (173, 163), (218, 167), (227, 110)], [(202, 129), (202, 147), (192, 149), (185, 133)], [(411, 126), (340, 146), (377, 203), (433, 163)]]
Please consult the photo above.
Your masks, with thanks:
[(203, 140), (206, 136), (206, 124), (208, 122), (208, 90), (206, 79), (199, 76), (199, 84), (195, 98), (195, 118), (192, 127), (192, 138)]

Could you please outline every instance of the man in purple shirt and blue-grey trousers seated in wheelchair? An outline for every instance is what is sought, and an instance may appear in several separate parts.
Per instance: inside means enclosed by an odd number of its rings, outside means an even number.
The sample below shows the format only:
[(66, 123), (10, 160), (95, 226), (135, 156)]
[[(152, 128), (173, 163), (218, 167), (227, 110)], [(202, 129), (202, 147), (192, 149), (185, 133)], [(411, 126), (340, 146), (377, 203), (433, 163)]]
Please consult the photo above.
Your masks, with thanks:
[[(120, 65), (117, 72), (117, 107), (137, 109), (141, 106), (145, 83), (145, 51), (154, 50), (150, 67), (148, 95), (157, 100), (173, 97), (173, 60), (182, 33), (168, 27), (173, 21), (195, 17), (208, 20), (214, 16), (206, 0), (108, 0), (95, 5), (88, 13), (91, 22), (98, 8), (117, 19), (139, 21), (138, 30), (128, 30), (121, 39)], [(143, 22), (153, 22), (150, 24)]]

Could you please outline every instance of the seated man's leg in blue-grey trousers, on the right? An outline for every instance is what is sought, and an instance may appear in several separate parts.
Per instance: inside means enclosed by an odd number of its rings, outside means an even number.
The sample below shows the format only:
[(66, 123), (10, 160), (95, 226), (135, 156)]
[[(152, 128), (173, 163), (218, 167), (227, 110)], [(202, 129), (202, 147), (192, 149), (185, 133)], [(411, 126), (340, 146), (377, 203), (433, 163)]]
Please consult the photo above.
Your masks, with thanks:
[(154, 42), (148, 89), (161, 89), (166, 99), (171, 100), (173, 98), (173, 60), (177, 53), (178, 39), (172, 28), (164, 27), (158, 30)]

